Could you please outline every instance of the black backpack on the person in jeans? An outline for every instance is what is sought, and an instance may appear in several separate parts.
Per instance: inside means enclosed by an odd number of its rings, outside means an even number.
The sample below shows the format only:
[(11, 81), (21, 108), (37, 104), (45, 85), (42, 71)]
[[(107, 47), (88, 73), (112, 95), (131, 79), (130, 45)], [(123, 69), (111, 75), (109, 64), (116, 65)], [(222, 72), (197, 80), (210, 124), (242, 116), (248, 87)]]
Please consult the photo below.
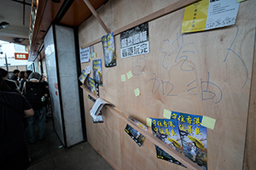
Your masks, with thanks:
[(42, 98), (44, 91), (40, 82), (25, 82), (25, 93), (23, 92), (26, 100), (30, 103), (34, 111), (40, 110), (44, 107)]

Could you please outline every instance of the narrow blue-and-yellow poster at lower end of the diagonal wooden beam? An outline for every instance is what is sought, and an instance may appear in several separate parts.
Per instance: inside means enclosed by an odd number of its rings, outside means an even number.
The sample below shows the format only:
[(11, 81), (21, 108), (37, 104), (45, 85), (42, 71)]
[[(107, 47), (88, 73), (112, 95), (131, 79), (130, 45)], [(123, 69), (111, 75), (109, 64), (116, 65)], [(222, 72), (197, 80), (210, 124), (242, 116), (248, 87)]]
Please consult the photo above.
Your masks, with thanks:
[(116, 55), (114, 50), (114, 39), (113, 32), (102, 37), (102, 48), (105, 59), (105, 66), (115, 66), (116, 65)]

